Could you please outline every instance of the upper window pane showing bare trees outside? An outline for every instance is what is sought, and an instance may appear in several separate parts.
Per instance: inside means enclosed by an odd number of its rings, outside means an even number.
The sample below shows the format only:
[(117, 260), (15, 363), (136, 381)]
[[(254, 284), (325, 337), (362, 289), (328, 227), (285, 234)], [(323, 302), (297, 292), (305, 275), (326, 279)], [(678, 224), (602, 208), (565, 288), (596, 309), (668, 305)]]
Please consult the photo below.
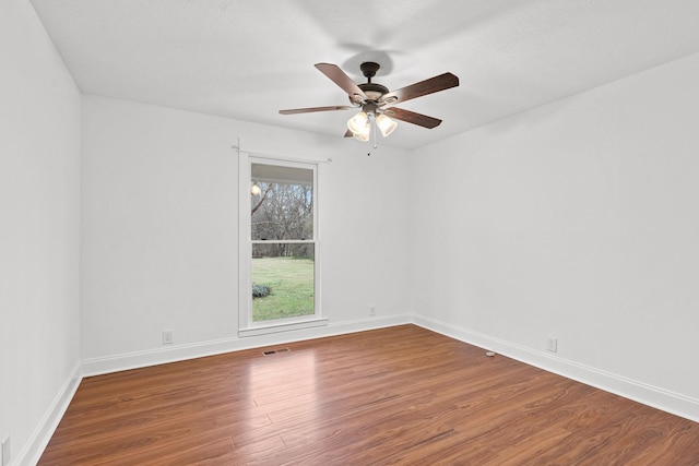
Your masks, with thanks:
[(252, 164), (253, 240), (313, 239), (313, 170)]

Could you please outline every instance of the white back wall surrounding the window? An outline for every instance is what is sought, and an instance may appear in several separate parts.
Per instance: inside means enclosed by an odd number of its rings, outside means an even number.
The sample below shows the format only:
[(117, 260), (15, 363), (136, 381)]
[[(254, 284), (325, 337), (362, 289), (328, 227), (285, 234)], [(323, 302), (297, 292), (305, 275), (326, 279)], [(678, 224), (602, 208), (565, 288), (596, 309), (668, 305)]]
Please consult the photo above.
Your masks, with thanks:
[[(238, 138), (251, 153), (333, 159), (321, 164), (319, 180), (322, 311), (331, 326), (406, 315), (405, 152), (380, 147), (367, 157), (366, 145), (343, 138), (84, 96), (87, 372), (270, 340), (237, 338)], [(173, 347), (162, 345), (165, 328)]]

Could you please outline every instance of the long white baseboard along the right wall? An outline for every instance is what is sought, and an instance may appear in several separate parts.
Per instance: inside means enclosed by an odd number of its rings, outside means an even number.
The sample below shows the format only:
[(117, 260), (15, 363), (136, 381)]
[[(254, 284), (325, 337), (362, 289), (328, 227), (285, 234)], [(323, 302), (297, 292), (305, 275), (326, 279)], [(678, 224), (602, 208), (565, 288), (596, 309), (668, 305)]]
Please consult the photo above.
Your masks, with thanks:
[(699, 399), (422, 315), (413, 314), (412, 322), (454, 339), (699, 422)]

